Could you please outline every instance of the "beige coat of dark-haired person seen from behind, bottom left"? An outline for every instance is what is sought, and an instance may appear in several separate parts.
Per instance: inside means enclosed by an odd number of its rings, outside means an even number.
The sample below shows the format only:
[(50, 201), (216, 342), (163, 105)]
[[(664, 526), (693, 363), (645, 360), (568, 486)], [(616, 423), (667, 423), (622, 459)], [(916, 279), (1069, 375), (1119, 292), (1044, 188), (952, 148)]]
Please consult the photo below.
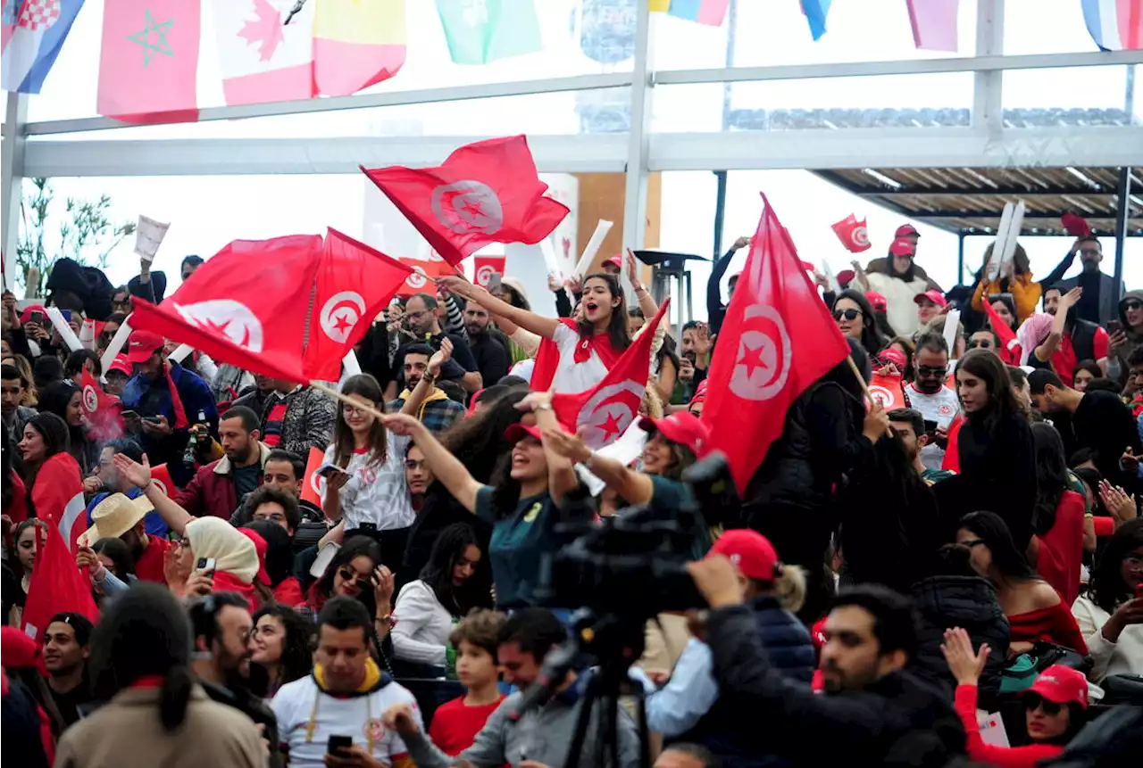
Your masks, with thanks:
[(159, 720), (159, 690), (131, 688), (69, 728), (55, 768), (265, 768), (267, 753), (254, 721), (216, 704), (202, 688), (171, 734)]

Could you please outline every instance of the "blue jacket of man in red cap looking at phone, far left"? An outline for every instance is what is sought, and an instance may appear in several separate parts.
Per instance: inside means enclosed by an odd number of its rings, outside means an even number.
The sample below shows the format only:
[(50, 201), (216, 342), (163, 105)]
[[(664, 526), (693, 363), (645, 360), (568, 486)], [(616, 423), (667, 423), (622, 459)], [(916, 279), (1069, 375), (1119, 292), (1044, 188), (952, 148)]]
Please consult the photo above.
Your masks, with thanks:
[[(201, 411), (206, 415), (210, 434), (217, 437), (218, 409), (207, 382), (181, 365), (171, 365), (170, 375), (178, 390), (178, 397), (183, 401), (187, 422), (193, 425)], [(135, 411), (141, 417), (166, 417), (167, 422), (174, 428), (175, 409), (170, 403), (170, 386), (166, 379), (151, 380), (143, 374), (136, 374), (123, 387), (121, 399), (125, 411)], [(183, 451), (186, 448), (189, 437), (190, 429), (175, 429), (169, 436), (158, 439), (146, 432), (138, 435), (139, 444), (146, 452), (151, 466), (167, 464), (171, 479), (179, 486), (185, 485), (193, 474), (193, 468), (183, 467)]]

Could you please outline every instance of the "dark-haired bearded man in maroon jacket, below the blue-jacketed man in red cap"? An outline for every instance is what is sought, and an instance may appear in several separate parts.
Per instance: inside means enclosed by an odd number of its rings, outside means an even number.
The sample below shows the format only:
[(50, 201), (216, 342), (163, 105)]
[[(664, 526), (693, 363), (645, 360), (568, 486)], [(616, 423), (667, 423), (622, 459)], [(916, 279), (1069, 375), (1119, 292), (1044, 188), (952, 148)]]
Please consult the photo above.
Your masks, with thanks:
[(200, 467), (175, 498), (176, 503), (194, 517), (214, 515), (229, 520), (246, 494), (262, 484), (270, 447), (258, 439), (259, 425), (258, 415), (248, 407), (226, 411), (218, 422), (218, 437), (226, 455)]

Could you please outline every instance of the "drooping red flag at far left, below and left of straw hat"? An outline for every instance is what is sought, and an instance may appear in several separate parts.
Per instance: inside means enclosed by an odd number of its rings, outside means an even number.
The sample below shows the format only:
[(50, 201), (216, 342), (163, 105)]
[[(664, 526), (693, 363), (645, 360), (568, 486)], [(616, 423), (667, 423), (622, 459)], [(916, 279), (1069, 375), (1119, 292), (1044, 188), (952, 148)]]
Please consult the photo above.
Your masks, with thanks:
[(75, 556), (69, 551), (55, 520), (48, 522), (39, 551), (24, 603), (24, 632), (41, 642), (48, 622), (63, 612), (83, 614), (93, 623), (99, 621), (99, 609), (91, 597), (91, 579), (75, 565)]

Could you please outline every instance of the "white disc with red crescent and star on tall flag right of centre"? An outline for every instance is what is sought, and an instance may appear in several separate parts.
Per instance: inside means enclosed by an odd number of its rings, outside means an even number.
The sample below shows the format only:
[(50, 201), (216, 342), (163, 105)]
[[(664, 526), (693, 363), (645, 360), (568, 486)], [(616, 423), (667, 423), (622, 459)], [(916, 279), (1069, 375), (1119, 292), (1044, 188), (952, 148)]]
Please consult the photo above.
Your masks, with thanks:
[(768, 401), (790, 377), (790, 334), (774, 307), (750, 305), (742, 321), (730, 391), (748, 401)]

